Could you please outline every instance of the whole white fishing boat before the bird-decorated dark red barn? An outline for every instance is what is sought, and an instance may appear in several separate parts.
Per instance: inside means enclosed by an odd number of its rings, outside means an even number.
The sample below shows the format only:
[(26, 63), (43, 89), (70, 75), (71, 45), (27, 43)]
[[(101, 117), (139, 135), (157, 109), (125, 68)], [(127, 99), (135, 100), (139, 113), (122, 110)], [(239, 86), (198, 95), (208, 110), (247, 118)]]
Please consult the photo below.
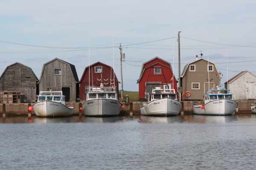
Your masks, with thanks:
[(85, 116), (117, 116), (121, 108), (124, 105), (118, 101), (116, 89), (101, 83), (100, 87), (89, 88), (81, 109)]

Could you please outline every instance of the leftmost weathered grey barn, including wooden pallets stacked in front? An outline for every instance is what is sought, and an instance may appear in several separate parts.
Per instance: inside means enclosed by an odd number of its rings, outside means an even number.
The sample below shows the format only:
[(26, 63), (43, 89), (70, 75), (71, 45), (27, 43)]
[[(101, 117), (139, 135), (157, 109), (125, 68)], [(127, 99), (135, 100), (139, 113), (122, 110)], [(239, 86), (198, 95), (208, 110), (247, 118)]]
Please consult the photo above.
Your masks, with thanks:
[(1, 103), (35, 102), (38, 78), (31, 68), (15, 62), (0, 77)]

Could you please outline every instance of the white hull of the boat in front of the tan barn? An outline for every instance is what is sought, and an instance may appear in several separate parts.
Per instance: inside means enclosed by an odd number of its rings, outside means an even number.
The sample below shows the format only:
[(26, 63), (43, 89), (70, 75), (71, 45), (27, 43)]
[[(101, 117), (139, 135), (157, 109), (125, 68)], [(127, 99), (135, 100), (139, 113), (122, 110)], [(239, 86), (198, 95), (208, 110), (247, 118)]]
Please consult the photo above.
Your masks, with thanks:
[(204, 105), (194, 105), (194, 114), (198, 115), (232, 115), (236, 110), (238, 103), (230, 99), (219, 99), (208, 102)]

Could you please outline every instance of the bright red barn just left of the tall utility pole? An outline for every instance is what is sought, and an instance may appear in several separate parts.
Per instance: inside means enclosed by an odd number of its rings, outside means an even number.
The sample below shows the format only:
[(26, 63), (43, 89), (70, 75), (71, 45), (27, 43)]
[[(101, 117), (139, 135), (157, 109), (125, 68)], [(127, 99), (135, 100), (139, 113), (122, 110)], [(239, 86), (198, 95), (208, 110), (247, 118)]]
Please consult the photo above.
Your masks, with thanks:
[(173, 74), (172, 66), (159, 57), (154, 57), (147, 62), (144, 62), (140, 72), (139, 97), (140, 100), (145, 99), (145, 92), (150, 92), (152, 88), (172, 88), (177, 92), (177, 80)]

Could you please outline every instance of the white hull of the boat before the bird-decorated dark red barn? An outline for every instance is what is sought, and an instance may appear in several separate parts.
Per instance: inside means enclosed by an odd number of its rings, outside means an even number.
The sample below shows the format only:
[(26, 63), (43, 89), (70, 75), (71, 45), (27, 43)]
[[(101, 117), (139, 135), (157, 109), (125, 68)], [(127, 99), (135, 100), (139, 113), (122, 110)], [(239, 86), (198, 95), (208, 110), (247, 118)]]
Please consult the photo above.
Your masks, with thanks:
[(117, 116), (121, 106), (121, 102), (115, 99), (92, 99), (82, 105), (85, 116)]

